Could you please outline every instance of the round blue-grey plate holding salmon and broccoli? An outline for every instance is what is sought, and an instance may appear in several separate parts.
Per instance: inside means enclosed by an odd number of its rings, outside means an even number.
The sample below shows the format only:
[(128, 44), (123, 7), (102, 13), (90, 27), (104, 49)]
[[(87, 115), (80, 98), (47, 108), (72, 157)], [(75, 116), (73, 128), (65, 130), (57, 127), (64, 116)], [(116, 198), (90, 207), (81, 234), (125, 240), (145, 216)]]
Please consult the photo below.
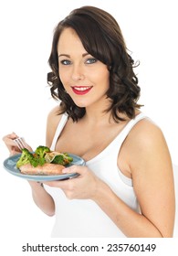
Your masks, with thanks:
[[(32, 176), (32, 175), (25, 175), (20, 172), (20, 170), (16, 167), (16, 162), (20, 158), (21, 154), (13, 155), (5, 159), (4, 161), (4, 167), (7, 172), (9, 172), (11, 175), (18, 176), (21, 178), (25, 178), (27, 180), (33, 180), (33, 181), (50, 181), (50, 180), (63, 180), (63, 179), (68, 179), (72, 177), (79, 176), (79, 174), (62, 174), (62, 175), (57, 175), (57, 176), (44, 176), (44, 175), (37, 175), (37, 176)], [(70, 165), (85, 165), (85, 161), (79, 157), (78, 155), (72, 155), (68, 154), (73, 158), (73, 161)], [(67, 165), (70, 166), (70, 165)]]

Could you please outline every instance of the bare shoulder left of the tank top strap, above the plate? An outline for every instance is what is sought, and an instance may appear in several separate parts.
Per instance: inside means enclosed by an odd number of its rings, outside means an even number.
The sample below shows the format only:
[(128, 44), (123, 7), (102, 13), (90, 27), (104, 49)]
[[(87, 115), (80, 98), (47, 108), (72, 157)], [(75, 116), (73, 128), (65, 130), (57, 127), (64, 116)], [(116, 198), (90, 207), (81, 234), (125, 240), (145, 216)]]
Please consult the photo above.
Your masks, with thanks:
[(48, 147), (52, 144), (53, 137), (57, 130), (58, 123), (61, 119), (61, 114), (59, 114), (59, 106), (53, 108), (47, 115), (47, 132), (46, 132), (46, 144)]

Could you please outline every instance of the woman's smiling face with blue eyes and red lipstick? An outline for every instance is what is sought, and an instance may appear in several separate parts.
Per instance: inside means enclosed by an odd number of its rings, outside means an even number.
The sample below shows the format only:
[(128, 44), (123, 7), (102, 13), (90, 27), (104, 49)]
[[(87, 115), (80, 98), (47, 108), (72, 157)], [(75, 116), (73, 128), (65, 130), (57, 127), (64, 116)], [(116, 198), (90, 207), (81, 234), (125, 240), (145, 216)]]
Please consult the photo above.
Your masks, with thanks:
[(92, 57), (72, 28), (65, 28), (58, 40), (59, 78), (79, 107), (106, 101), (110, 86), (107, 66)]

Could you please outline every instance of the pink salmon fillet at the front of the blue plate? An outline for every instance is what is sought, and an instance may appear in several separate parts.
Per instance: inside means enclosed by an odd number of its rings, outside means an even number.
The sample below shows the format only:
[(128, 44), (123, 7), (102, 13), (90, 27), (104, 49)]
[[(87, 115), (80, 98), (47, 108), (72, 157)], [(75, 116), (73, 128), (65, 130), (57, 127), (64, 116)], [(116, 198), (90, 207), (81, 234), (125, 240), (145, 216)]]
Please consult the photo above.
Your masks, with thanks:
[(26, 175), (46, 175), (46, 176), (54, 176), (61, 175), (62, 170), (65, 167), (63, 165), (55, 165), (55, 164), (45, 164), (45, 165), (37, 165), (37, 167), (33, 167), (30, 164), (22, 165), (19, 169), (22, 174)]

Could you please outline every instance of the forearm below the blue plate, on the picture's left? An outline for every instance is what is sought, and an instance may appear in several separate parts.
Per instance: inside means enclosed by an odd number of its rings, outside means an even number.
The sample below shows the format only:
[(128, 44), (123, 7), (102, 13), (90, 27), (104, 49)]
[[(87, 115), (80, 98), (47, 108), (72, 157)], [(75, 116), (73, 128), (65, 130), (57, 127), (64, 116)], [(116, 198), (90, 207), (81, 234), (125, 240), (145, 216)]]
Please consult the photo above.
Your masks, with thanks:
[(48, 216), (55, 214), (55, 203), (53, 198), (47, 193), (44, 187), (34, 181), (28, 181), (32, 189), (32, 197), (37, 207)]

